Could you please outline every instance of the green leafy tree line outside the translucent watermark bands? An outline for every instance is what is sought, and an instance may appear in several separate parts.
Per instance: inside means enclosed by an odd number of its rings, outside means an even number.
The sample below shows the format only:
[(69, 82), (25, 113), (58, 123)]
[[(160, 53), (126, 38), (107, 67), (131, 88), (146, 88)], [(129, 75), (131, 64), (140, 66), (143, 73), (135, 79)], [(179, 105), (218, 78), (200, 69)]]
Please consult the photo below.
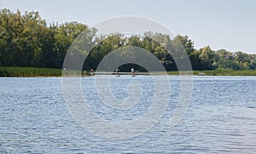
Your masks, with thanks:
[[(9, 9), (0, 10), (0, 66), (27, 66), (62, 68), (68, 48), (81, 32), (85, 34), (84, 43), (94, 47), (84, 62), (84, 70), (96, 69), (104, 56), (117, 48), (134, 46), (145, 48), (154, 54), (167, 71), (177, 70), (170, 53), (178, 53), (182, 45), (189, 55), (193, 70), (255, 70), (256, 54), (241, 51), (230, 52), (225, 49), (212, 50), (210, 46), (196, 49), (188, 36), (169, 35), (147, 31), (143, 36), (96, 36), (96, 28), (79, 22), (63, 24), (42, 20), (38, 12), (21, 14)], [(75, 44), (73, 44), (75, 45)], [(129, 52), (129, 51), (126, 51)], [(83, 52), (79, 54), (83, 55)], [(176, 54), (183, 56), (182, 54)], [(74, 56), (78, 57), (78, 56)], [(128, 69), (134, 64), (122, 66)], [(138, 70), (143, 68), (137, 66)]]

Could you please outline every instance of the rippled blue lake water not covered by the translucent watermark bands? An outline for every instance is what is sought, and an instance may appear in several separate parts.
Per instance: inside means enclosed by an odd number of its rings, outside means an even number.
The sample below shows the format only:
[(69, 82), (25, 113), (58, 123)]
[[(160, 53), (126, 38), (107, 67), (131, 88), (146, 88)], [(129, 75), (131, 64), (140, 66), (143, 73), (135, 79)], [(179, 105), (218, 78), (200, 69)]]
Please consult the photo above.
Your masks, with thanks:
[[(183, 119), (166, 122), (177, 104), (179, 77), (164, 116), (145, 134), (107, 140), (81, 128), (67, 111), (61, 77), (0, 78), (0, 153), (256, 153), (256, 77), (194, 77), (193, 96)], [(118, 111), (101, 103), (94, 77), (82, 79), (84, 96), (99, 117), (119, 122), (143, 116), (154, 91), (152, 78), (112, 77), (112, 94), (129, 97), (127, 84), (142, 86), (142, 100)], [(148, 103), (149, 102), (149, 103)]]

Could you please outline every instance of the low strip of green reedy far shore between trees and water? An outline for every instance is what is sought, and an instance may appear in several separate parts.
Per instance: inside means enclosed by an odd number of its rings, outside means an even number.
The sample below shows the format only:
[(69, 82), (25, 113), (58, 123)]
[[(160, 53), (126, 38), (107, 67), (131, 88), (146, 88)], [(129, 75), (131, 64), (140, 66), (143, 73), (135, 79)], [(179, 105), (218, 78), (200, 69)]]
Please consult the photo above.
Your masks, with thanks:
[[(67, 71), (68, 75), (90, 76), (88, 71)], [(149, 75), (147, 72), (136, 72), (137, 75)], [(104, 74), (97, 73), (96, 74)], [(105, 73), (106, 75), (114, 74), (113, 72)], [(120, 74), (129, 74), (120, 72)], [(161, 73), (154, 73), (161, 75)], [(179, 75), (179, 71), (167, 71), (168, 75)], [(0, 67), (0, 77), (61, 77), (62, 70), (55, 68), (35, 68), (35, 67)], [(195, 76), (256, 76), (256, 70), (210, 70), (210, 71), (193, 71)]]

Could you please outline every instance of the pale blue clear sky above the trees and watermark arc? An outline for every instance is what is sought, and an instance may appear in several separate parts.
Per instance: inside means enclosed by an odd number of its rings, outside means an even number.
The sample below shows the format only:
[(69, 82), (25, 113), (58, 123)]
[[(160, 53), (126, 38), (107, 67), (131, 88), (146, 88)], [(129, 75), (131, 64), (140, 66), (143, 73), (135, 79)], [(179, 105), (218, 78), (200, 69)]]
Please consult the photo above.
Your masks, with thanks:
[(130, 15), (155, 20), (172, 34), (187, 35), (195, 48), (256, 54), (255, 0), (0, 0), (1, 9), (38, 11), (47, 22), (93, 26)]

